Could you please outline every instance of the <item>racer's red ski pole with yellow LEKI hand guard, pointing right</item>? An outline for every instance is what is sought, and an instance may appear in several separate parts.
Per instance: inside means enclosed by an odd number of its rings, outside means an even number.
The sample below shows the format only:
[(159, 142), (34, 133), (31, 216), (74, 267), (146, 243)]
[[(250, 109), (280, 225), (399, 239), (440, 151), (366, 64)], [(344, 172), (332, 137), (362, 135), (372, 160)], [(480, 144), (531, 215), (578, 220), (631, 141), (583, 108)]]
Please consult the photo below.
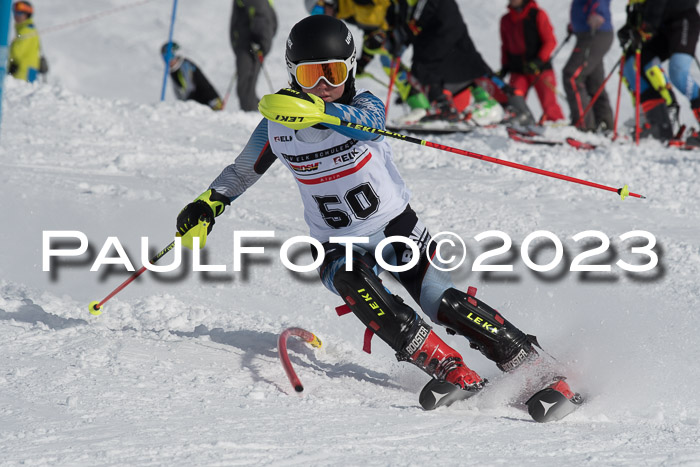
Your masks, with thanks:
[[(380, 128), (372, 128), (368, 126), (361, 125), (359, 123), (351, 123), (341, 120), (333, 115), (328, 115), (323, 112), (312, 95), (304, 95), (308, 97), (308, 100), (302, 96), (299, 91), (294, 91), (293, 89), (283, 89), (277, 94), (268, 94), (260, 99), (258, 104), (258, 110), (260, 113), (271, 121), (276, 121), (288, 128), (292, 129), (302, 129), (313, 126), (317, 123), (325, 123), (328, 125), (344, 126), (353, 130), (365, 131), (367, 133), (373, 133), (377, 135), (387, 136), (389, 138), (398, 139), (401, 141), (406, 141), (413, 144), (419, 144), (421, 146), (428, 146), (431, 148), (439, 149), (441, 151), (452, 152), (455, 154), (460, 154), (462, 156), (471, 157), (474, 159), (483, 160), (485, 162), (492, 162), (494, 164), (505, 165), (506, 167), (512, 167), (514, 169), (524, 170), (526, 172), (532, 172), (539, 175), (545, 175), (547, 177), (558, 178), (560, 180), (565, 180), (567, 182), (578, 183), (580, 185), (586, 185), (593, 188), (598, 188), (600, 190), (612, 191), (620, 195), (624, 200), (627, 196), (632, 196), (635, 198), (645, 198), (637, 193), (631, 193), (627, 185), (622, 188), (613, 188), (606, 185), (601, 185), (599, 183), (589, 182), (587, 180), (581, 180), (579, 178), (570, 177), (568, 175), (558, 174), (556, 172), (550, 172), (548, 170), (538, 169), (536, 167), (530, 167), (528, 165), (518, 164), (516, 162), (510, 162), (503, 159), (496, 159), (494, 157), (485, 156), (483, 154), (478, 154), (476, 152), (465, 151), (464, 149), (457, 149), (451, 146), (445, 146), (443, 144), (432, 143), (419, 138), (414, 138), (412, 136), (403, 135), (400, 133), (394, 133), (392, 131), (382, 130)], [(316, 97), (320, 101), (320, 98)]]

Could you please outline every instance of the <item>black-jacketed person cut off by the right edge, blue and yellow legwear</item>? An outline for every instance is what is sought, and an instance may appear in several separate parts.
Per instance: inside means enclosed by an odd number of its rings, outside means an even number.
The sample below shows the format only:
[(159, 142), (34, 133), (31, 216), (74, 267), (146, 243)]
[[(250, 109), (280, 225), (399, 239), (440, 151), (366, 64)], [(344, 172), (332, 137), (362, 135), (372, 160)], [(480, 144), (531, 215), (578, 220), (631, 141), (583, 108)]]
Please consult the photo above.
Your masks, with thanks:
[[(690, 75), (695, 46), (700, 35), (698, 0), (630, 1), (627, 22), (618, 31), (618, 39), (627, 50), (624, 76), (635, 94), (635, 54), (641, 52), (640, 106), (646, 117), (642, 136), (668, 141), (673, 138), (670, 109), (678, 108), (661, 62), (669, 60), (670, 82), (690, 100), (695, 118), (700, 121), (700, 91)], [(700, 145), (697, 135), (688, 143)]]

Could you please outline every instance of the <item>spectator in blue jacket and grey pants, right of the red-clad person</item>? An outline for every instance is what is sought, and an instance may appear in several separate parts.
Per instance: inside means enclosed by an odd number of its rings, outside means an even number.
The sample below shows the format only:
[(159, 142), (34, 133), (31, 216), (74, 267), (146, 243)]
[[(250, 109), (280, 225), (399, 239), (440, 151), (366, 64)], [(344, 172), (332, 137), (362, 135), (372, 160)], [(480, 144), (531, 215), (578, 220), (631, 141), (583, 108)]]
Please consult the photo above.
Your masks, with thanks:
[[(610, 0), (573, 0), (569, 32), (576, 36), (576, 46), (564, 66), (562, 80), (571, 111), (571, 124), (576, 125), (605, 81), (603, 57), (610, 50), (614, 37)], [(612, 108), (603, 89), (579, 128), (604, 131), (612, 127)]]

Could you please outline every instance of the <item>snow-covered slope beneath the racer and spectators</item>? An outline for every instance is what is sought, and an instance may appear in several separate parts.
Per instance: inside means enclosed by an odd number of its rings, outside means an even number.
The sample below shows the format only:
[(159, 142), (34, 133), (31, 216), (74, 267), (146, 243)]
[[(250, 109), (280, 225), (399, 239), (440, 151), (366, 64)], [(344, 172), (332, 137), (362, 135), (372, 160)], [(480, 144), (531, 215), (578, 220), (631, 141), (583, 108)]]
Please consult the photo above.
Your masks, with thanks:
[[(34, 2), (40, 29), (131, 3)], [(492, 64), (502, 3), (474, 9), (460, 2)], [(539, 3), (563, 37), (568, 2)], [(613, 3), (622, 21), (623, 2)], [(281, 26), (267, 67), (281, 87), (284, 39), (304, 11), (301, 1), (276, 5)], [(157, 102), (158, 49), (170, 7), (154, 0), (47, 33), (50, 82), (6, 81), (0, 465), (700, 465), (700, 156), (656, 142), (612, 145), (571, 129), (549, 129), (547, 137), (576, 135), (603, 147), (524, 146), (503, 129), (432, 138), (605, 185), (629, 183), (648, 197), (625, 201), (391, 142), (412, 205), (432, 233), (455, 232), (467, 243), (458, 286), (477, 286), (483, 300), (536, 334), (587, 394), (586, 405), (561, 423), (530, 422), (508, 404), (515, 380), (501, 379), (464, 339), (449, 336), (468, 364), (495, 383), (450, 408), (420, 410), (425, 375), (396, 362), (378, 339), (371, 355), (363, 353), (359, 321), (335, 314), (340, 300), (314, 273), (293, 274), (281, 264), (281, 243), (307, 233), (294, 182), (281, 166), (217, 219), (205, 258), (226, 265), (225, 273), (193, 273), (184, 253), (178, 272), (144, 274), (101, 316), (90, 315), (87, 304), (128, 277), (121, 267), (90, 272), (107, 238), (116, 236), (139, 267), (140, 238), (149, 237), (152, 252), (167, 245), (179, 210), (235, 157), (260, 118), (237, 111), (235, 96), (218, 114), (172, 96)], [(225, 89), (233, 73), (230, 3), (199, 0), (179, 8), (176, 40)], [(567, 55), (563, 50), (561, 64)], [(266, 88), (261, 78), (259, 92)], [(626, 96), (624, 105), (631, 114)], [(276, 235), (260, 243), (266, 254), (246, 273), (232, 271), (234, 229)], [(84, 232), (88, 252), (43, 272), (48, 230)], [(498, 246), (473, 239), (487, 230), (513, 239), (511, 253), (498, 258), (514, 265), (512, 273), (470, 270), (477, 255)], [(549, 273), (534, 273), (520, 258), (523, 240), (537, 230), (564, 245), (561, 265)], [(608, 252), (590, 262), (612, 264), (611, 273), (568, 271), (576, 255), (596, 246), (572, 240), (586, 230), (610, 237)], [(634, 230), (658, 242), (659, 264), (650, 272), (615, 265), (646, 262), (631, 252), (635, 240), (619, 238)], [(535, 250), (539, 264), (553, 257), (552, 249)], [(303, 253), (299, 262), (309, 260)], [(313, 350), (290, 341), (302, 395), (277, 360), (277, 336), (289, 326), (324, 343)]]

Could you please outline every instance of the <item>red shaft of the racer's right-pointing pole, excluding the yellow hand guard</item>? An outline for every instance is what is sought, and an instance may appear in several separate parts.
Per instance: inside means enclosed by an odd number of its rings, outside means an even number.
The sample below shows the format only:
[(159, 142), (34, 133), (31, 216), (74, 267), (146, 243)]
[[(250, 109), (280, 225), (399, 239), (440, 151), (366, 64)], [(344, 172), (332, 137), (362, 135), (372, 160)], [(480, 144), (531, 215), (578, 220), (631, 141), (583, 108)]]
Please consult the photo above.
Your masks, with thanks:
[(547, 177), (558, 178), (559, 180), (566, 180), (567, 182), (578, 183), (580, 185), (586, 185), (586, 186), (590, 186), (593, 188), (598, 188), (600, 190), (612, 191), (612, 192), (620, 195), (620, 197), (623, 200), (627, 196), (632, 196), (634, 198), (646, 198), (646, 196), (630, 192), (627, 185), (623, 186), (622, 188), (613, 188), (610, 186), (601, 185), (599, 183), (594, 183), (594, 182), (589, 182), (587, 180), (582, 180), (580, 178), (569, 177), (568, 175), (562, 175), (562, 174), (559, 174), (556, 172), (550, 172), (548, 170), (538, 169), (536, 167), (530, 167), (529, 165), (518, 164), (517, 162), (510, 162), (510, 161), (503, 160), (503, 159), (496, 159), (495, 157), (485, 156), (483, 154), (478, 154), (476, 152), (465, 151), (463, 149), (457, 149), (457, 148), (453, 148), (451, 146), (445, 146), (444, 144), (432, 143), (432, 142), (426, 141), (424, 139), (414, 138), (412, 136), (403, 135), (401, 133), (394, 133), (393, 131), (382, 130), (380, 128), (367, 127), (367, 126), (361, 125), (359, 123), (346, 122), (344, 120), (340, 120), (337, 117), (330, 117), (329, 120), (327, 120), (327, 123), (330, 123), (332, 125), (345, 126), (348, 128), (352, 128), (354, 130), (366, 131), (368, 133), (375, 133), (378, 135), (387, 136), (389, 138), (395, 138), (395, 139), (399, 139), (401, 141), (407, 141), (409, 143), (420, 144), (421, 146), (428, 146), (431, 148), (440, 149), (442, 151), (453, 152), (455, 154), (460, 154), (462, 156), (467, 156), (467, 157), (479, 159), (479, 160), (486, 161), (486, 162), (492, 162), (494, 164), (505, 165), (506, 167), (512, 167), (514, 169), (520, 169), (520, 170), (524, 170), (526, 172), (532, 172), (532, 173), (536, 173), (536, 174), (540, 174), (540, 175), (545, 175)]

